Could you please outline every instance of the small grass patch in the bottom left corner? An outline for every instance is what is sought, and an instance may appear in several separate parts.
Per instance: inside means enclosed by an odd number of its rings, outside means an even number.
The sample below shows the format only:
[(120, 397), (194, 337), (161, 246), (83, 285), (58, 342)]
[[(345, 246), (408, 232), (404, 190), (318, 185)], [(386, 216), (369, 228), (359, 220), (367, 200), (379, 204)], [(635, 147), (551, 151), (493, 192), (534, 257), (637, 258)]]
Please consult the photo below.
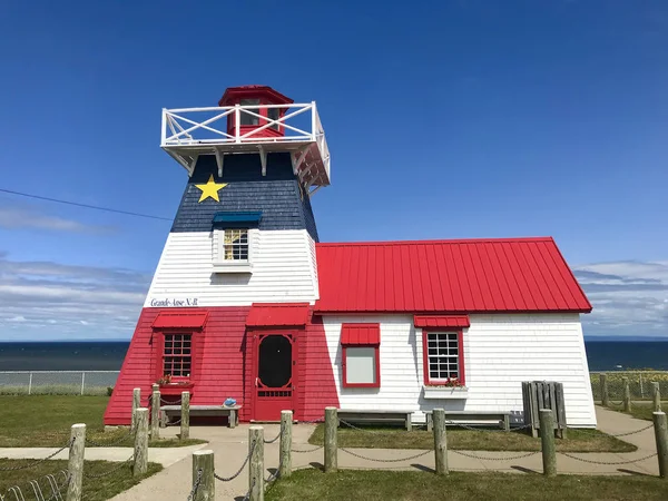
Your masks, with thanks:
[[(3, 460), (0, 459), (0, 468), (11, 468), (20, 464), (30, 463), (35, 460)], [(112, 468), (118, 466), (118, 463), (109, 461), (86, 461), (84, 463), (85, 473), (102, 473), (109, 471)], [(19, 471), (3, 471), (0, 475), (0, 497), (6, 495), (7, 499), (14, 499), (14, 494), (7, 492), (10, 487), (19, 485), (23, 495), (27, 500), (35, 499), (35, 493), (30, 487), (31, 480), (38, 480), (41, 487), (41, 491), (46, 499), (52, 495), (52, 491), (49, 487), (49, 482), (45, 479), (45, 475), (58, 473), (61, 470), (67, 470), (67, 461), (45, 461), (35, 468)], [(141, 480), (154, 473), (163, 470), (163, 466), (157, 463), (148, 463), (148, 472), (143, 477), (132, 477), (131, 464), (124, 465), (120, 470), (99, 479), (88, 479), (84, 477), (82, 493), (84, 499), (87, 501), (102, 501), (110, 499), (116, 494), (128, 490), (132, 485), (138, 484)], [(56, 475), (56, 480), (61, 485), (65, 481), (61, 474)], [(63, 498), (67, 489), (61, 490)], [(20, 499), (20, 498), (19, 498)]]

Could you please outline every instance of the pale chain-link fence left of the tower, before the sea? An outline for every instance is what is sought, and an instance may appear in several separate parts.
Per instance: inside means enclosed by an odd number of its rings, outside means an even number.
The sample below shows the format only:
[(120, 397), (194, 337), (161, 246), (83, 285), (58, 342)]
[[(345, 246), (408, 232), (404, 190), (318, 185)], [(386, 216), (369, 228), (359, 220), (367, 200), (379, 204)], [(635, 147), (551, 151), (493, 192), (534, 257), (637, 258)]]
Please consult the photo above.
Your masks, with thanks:
[(0, 371), (0, 395), (106, 395), (119, 371)]

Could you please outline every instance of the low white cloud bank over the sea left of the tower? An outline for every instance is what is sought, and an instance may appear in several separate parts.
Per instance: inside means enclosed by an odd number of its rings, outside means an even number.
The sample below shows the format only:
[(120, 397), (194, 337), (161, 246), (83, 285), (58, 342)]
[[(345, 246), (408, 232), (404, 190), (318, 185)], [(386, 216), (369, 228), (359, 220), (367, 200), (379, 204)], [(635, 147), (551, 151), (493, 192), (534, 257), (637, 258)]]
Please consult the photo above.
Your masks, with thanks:
[(129, 337), (149, 283), (149, 274), (131, 269), (0, 253), (0, 340)]

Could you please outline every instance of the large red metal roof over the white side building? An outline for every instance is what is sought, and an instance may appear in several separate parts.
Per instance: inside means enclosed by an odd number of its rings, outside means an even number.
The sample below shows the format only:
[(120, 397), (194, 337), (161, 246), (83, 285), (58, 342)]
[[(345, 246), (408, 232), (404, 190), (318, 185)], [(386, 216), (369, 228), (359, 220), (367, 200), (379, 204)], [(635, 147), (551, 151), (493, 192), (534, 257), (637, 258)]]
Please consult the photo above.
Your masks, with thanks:
[(317, 313), (581, 312), (550, 237), (317, 244)]

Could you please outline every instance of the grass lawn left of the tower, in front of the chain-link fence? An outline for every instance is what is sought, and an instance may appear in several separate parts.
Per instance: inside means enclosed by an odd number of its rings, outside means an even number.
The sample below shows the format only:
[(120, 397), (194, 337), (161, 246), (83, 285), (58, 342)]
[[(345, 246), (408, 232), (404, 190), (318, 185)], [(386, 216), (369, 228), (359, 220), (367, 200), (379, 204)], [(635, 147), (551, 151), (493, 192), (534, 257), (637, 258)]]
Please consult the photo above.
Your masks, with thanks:
[[(0, 448), (62, 446), (75, 423), (86, 423), (86, 436), (100, 444), (132, 446), (131, 438), (116, 444), (127, 430), (105, 432), (102, 414), (108, 396), (18, 395), (0, 396)], [(159, 440), (150, 446), (184, 446), (203, 440)], [(92, 446), (92, 444), (90, 445)]]

